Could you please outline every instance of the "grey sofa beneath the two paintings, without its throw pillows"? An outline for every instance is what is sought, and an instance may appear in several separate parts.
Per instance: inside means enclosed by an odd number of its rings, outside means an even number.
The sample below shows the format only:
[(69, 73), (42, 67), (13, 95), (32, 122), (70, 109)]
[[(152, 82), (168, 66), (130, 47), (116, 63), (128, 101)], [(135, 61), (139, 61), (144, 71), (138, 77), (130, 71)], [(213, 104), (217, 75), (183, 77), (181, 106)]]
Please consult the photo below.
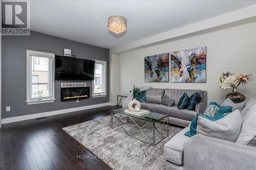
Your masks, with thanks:
[[(198, 92), (202, 98), (201, 102), (196, 105), (195, 110), (181, 109), (179, 110), (177, 105), (180, 98), (187, 93), (188, 96)], [(164, 95), (167, 94), (169, 98), (174, 99), (174, 106), (167, 107), (162, 104), (156, 103), (144, 103), (141, 102), (141, 108), (145, 110), (150, 110), (157, 113), (162, 113), (169, 115), (170, 123), (187, 127), (190, 122), (194, 119), (198, 112), (204, 112), (207, 107), (207, 91), (202, 90), (184, 90), (184, 89), (160, 89), (160, 88), (150, 88), (146, 90), (146, 95)]]

